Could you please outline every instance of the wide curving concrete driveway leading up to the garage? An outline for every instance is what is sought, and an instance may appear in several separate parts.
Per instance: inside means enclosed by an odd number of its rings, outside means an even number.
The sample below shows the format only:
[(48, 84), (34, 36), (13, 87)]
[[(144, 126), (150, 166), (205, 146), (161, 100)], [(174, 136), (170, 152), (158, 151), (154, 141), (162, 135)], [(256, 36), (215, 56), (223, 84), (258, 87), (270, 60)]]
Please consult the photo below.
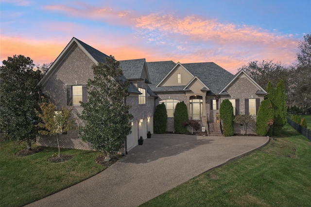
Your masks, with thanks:
[(153, 134), (128, 155), (29, 207), (136, 207), (269, 142), (267, 137)]

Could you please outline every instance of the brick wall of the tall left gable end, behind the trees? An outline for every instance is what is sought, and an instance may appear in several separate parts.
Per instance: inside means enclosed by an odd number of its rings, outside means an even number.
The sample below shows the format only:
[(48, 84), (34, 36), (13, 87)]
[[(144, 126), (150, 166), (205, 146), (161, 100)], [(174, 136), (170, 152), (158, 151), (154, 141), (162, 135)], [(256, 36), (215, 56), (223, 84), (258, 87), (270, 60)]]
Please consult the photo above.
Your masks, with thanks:
[[(42, 92), (48, 95), (58, 107), (67, 106), (67, 85), (86, 85), (88, 79), (93, 79), (92, 65), (94, 62), (79, 48), (73, 46), (68, 55), (59, 64), (52, 76), (42, 86)], [(83, 125), (78, 114), (83, 111), (80, 106), (72, 106), (71, 117), (76, 119), (78, 127)], [(90, 143), (85, 143), (78, 137), (76, 130), (70, 130), (66, 135), (60, 135), (60, 147), (91, 150)], [(55, 136), (39, 136), (37, 145), (57, 147)]]

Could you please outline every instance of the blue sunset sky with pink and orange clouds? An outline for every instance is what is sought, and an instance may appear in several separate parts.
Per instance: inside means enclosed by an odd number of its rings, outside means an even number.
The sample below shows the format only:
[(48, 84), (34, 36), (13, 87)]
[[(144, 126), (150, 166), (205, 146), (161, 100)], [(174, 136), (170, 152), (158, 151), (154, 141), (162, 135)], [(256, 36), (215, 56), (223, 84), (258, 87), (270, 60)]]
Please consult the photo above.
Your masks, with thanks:
[(72, 37), (117, 60), (292, 64), (311, 0), (1, 0), (0, 60), (51, 63)]

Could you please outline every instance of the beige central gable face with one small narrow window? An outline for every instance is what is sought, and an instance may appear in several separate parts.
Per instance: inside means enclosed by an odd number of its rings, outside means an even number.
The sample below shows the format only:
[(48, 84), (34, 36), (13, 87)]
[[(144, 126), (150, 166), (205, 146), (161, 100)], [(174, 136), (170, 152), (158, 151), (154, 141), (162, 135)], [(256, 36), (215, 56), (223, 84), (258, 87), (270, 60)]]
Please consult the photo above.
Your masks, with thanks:
[(193, 77), (194, 76), (182, 64), (177, 63), (156, 87), (187, 85)]

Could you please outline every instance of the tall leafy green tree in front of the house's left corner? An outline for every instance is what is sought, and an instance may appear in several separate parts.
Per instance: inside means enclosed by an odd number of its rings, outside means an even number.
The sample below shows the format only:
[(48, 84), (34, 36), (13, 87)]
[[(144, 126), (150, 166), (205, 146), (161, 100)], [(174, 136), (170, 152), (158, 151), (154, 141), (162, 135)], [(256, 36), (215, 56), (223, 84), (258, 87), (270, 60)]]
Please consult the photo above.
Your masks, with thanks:
[(83, 107), (79, 117), (86, 126), (79, 127), (83, 141), (106, 154), (106, 159), (117, 153), (131, 132), (130, 106), (126, 105), (129, 83), (122, 78), (120, 63), (113, 56), (105, 63), (93, 65), (94, 80), (88, 80), (88, 101), (80, 102)]

